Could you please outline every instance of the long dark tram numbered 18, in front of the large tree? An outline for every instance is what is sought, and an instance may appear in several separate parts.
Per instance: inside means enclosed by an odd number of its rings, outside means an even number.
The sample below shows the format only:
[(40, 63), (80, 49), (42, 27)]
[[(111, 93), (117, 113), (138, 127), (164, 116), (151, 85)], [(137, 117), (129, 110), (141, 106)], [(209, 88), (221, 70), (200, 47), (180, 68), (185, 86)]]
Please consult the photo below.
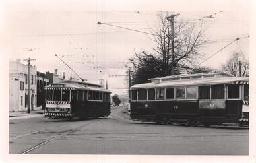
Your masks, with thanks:
[(249, 125), (249, 77), (199, 73), (148, 80), (131, 86), (133, 121)]

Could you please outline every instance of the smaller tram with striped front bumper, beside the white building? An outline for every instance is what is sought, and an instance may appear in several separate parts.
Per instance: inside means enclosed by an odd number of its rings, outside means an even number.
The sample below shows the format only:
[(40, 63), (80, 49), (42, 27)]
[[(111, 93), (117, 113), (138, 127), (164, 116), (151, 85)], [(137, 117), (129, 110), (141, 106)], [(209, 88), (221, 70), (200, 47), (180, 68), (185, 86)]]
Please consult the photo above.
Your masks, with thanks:
[(110, 115), (110, 90), (101, 85), (65, 80), (45, 86), (44, 117), (91, 118)]

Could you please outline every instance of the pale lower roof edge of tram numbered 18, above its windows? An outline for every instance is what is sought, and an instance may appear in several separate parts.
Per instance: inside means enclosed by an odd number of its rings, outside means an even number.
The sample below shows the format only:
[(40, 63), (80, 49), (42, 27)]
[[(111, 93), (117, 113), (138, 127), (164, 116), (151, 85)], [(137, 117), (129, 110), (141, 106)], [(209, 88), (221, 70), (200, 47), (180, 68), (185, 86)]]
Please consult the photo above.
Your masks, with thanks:
[(204, 78), (204, 79), (183, 79), (168, 82), (151, 82), (144, 84), (135, 84), (131, 89), (137, 88), (158, 88), (171, 86), (203, 86), (210, 84), (249, 84), (249, 77), (219, 77), (219, 78)]

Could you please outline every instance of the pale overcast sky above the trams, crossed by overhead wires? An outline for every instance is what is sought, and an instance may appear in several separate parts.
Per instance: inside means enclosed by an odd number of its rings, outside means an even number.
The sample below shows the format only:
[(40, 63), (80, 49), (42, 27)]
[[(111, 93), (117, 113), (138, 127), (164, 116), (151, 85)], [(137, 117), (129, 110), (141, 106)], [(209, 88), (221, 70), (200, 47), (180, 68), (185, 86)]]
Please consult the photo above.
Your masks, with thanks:
[[(36, 59), (38, 71), (58, 69), (67, 77), (75, 76), (55, 54), (70, 65), (84, 79), (98, 82), (108, 80), (108, 88), (125, 94), (127, 69), (123, 62), (134, 51), (152, 51), (156, 44), (150, 35), (125, 30), (97, 22), (150, 32), (157, 26), (157, 13), (180, 13), (177, 21), (199, 24), (205, 18), (205, 44), (201, 53), (209, 57), (236, 38), (223, 51), (203, 63), (218, 68), (232, 51), (243, 51), (249, 57), (250, 1), (5, 1), (5, 25), (1, 42), (7, 58)], [(25, 63), (25, 62), (23, 62)]]

